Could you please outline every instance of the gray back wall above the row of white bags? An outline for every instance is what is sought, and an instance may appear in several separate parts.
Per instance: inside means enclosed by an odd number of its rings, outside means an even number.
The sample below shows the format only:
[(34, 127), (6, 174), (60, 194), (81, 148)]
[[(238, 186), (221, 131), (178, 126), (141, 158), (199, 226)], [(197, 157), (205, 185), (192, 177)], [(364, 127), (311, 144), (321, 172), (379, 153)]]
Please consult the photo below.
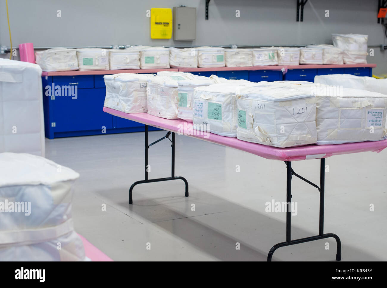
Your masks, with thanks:
[[(152, 7), (197, 8), (197, 40), (150, 39)], [(57, 17), (57, 10), (62, 17)], [(240, 10), (240, 17), (235, 17)], [(329, 18), (325, 17), (329, 10)], [(290, 45), (331, 43), (331, 33), (368, 34), (368, 45), (387, 43), (377, 24), (377, 0), (309, 0), (296, 22), (296, 0), (10, 0), (12, 43), (45, 46)], [(0, 45), (10, 46), (5, 1), (0, 2)], [(387, 52), (368, 56), (375, 73), (387, 72)], [(5, 57), (2, 55), (2, 57)], [(17, 59), (17, 58), (15, 58)]]

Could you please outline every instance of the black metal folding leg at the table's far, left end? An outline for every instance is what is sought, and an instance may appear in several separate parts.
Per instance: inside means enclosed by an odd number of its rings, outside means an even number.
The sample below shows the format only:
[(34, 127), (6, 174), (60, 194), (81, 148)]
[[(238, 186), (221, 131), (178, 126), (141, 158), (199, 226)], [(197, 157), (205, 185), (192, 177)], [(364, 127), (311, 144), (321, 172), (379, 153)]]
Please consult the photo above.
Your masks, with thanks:
[[(184, 181), (184, 183), (185, 183), (185, 197), (188, 197), (188, 182), (187, 182), (187, 180), (184, 177), (175, 176), (175, 133), (172, 132), (172, 140), (169, 138), (170, 135), (171, 135), (171, 132), (168, 131), (167, 134), (163, 138), (160, 138), (159, 140), (154, 141), (153, 143), (148, 145), (148, 125), (145, 125), (145, 180), (136, 181), (132, 184), (132, 186), (130, 186), (129, 204), (133, 204), (132, 190), (133, 190), (134, 186), (136, 186), (137, 184), (168, 181), (168, 180), (175, 180), (175, 179), (182, 179)], [(171, 177), (148, 179), (148, 149), (152, 145), (154, 145), (154, 144), (156, 144), (164, 139), (168, 139), (172, 143), (172, 145), (171, 145), (171, 147), (172, 147)]]

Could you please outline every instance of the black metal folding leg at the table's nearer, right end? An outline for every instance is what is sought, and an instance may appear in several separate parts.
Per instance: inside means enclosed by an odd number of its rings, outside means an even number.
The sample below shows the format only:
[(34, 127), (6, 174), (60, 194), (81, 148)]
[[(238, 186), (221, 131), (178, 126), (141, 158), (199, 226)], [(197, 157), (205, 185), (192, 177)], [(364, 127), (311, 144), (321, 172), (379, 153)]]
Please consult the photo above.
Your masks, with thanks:
[[(325, 182), (325, 159), (322, 158), (320, 162), (320, 187), (315, 185), (314, 183), (308, 181), (307, 179), (301, 177), (300, 175), (296, 174), (293, 169), (291, 168), (291, 162), (286, 161), (286, 203), (287, 210), (286, 210), (286, 241), (278, 243), (274, 245), (267, 255), (267, 261), (271, 261), (271, 258), (273, 257), (274, 251), (276, 251), (280, 247), (285, 247), (289, 245), (295, 245), (299, 243), (314, 241), (314, 240), (320, 240), (324, 238), (330, 238), (333, 237), (336, 239), (337, 242), (337, 250), (336, 250), (336, 260), (341, 260), (341, 241), (339, 236), (333, 233), (326, 233), (324, 234), (324, 182)], [(291, 240), (290, 237), (290, 231), (291, 231), (291, 178), (292, 176), (296, 176), (300, 178), (301, 180), (307, 182), (308, 184), (316, 187), (320, 192), (320, 223), (319, 223), (319, 235), (316, 236), (310, 236), (306, 238)]]

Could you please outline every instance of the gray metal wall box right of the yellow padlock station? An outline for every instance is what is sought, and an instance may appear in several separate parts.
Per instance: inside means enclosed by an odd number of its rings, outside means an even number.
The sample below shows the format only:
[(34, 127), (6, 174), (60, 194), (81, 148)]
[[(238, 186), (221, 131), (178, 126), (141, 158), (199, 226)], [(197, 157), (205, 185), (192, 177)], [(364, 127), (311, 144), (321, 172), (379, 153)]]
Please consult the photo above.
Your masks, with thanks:
[(173, 7), (173, 40), (196, 39), (196, 8)]

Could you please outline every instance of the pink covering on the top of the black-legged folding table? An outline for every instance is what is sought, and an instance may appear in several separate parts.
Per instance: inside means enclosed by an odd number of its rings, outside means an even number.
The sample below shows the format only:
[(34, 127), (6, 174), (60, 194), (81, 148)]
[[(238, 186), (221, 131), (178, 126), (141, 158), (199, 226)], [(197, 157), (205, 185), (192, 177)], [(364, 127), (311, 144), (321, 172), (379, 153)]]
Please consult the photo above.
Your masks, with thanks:
[[(163, 130), (177, 132), (178, 134), (180, 134), (179, 132), (182, 131), (182, 129), (183, 131), (187, 130), (188, 132), (190, 132), (190, 129), (184, 129), (184, 128), (190, 128), (189, 125), (192, 125), (192, 123), (181, 119), (176, 119), (176, 120), (164, 119), (161, 117), (152, 116), (147, 113), (128, 114), (118, 110), (110, 109), (108, 107), (103, 107), (103, 111), (106, 113), (112, 114), (114, 116), (129, 119), (146, 125), (154, 126), (157, 128), (161, 128)], [(193, 130), (193, 131), (196, 131), (196, 130)], [(257, 144), (257, 143), (246, 142), (236, 138), (219, 136), (209, 132), (207, 132), (207, 136), (188, 135), (186, 133), (184, 133), (184, 135), (209, 141), (212, 143), (224, 145), (227, 147), (235, 148), (238, 150), (242, 150), (248, 153), (252, 153), (254, 155), (258, 155), (260, 157), (264, 157), (266, 159), (274, 159), (274, 160), (281, 160), (281, 161), (320, 159), (320, 158), (327, 158), (333, 155), (358, 153), (358, 152), (366, 152), (366, 151), (380, 152), (387, 147), (387, 140), (380, 140), (380, 141), (365, 141), (365, 142), (357, 142), (357, 143), (330, 144), (330, 145), (311, 144), (311, 145), (298, 146), (298, 147), (277, 148), (277, 147), (271, 147), (271, 146)]]

